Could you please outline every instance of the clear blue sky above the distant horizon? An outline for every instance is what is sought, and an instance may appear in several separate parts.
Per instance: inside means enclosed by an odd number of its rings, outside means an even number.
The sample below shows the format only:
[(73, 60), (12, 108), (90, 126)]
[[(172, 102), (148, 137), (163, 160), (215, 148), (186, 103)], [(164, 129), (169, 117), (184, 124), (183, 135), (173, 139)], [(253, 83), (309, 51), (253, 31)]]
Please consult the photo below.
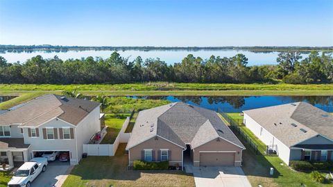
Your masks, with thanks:
[(333, 46), (333, 0), (0, 0), (0, 44)]

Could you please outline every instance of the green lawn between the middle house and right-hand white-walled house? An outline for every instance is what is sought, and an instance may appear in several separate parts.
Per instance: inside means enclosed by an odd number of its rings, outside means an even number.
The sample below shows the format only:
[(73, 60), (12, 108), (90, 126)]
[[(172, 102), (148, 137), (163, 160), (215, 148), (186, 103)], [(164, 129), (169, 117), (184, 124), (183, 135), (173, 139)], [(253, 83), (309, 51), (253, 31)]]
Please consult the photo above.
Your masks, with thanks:
[[(239, 119), (238, 113), (228, 113), (230, 117)], [(248, 136), (257, 144), (264, 145), (249, 129), (241, 127)], [(240, 138), (241, 139), (241, 138)], [(309, 186), (332, 186), (331, 184), (319, 184), (313, 181), (308, 173), (296, 172), (284, 164), (278, 156), (264, 156), (263, 154), (255, 154), (248, 144), (244, 143), (246, 151), (244, 151), (243, 170), (253, 186), (262, 184), (263, 186), (300, 186), (305, 184)], [(263, 150), (261, 150), (262, 152)], [(269, 168), (275, 168), (273, 177), (268, 175)], [(324, 176), (327, 172), (323, 172)]]

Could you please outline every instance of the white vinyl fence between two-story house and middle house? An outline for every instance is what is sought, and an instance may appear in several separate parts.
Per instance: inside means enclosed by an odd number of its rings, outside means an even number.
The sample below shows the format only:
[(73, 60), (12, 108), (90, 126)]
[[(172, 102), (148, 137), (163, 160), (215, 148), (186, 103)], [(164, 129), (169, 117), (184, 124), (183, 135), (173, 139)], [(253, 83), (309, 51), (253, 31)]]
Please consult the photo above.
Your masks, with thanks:
[(128, 124), (130, 124), (130, 117), (127, 117), (125, 122), (123, 122), (123, 127), (121, 127), (113, 144), (84, 144), (83, 152), (87, 153), (88, 156), (114, 156), (119, 143), (128, 143), (130, 133), (125, 133)]

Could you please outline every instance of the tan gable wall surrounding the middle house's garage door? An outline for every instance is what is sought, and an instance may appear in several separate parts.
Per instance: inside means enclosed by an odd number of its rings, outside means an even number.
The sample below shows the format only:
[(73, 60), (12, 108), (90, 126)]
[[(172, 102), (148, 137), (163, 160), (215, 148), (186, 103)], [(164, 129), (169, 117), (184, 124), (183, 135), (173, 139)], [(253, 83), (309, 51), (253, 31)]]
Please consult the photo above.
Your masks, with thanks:
[(235, 166), (241, 165), (242, 149), (237, 145), (229, 143), (228, 141), (223, 140), (221, 138), (219, 138), (219, 141), (217, 141), (216, 138), (210, 141), (209, 143), (205, 143), (204, 145), (200, 145), (199, 147), (196, 147), (194, 149), (194, 154), (193, 154), (194, 166), (200, 165), (200, 152), (203, 151), (235, 152), (234, 165)]

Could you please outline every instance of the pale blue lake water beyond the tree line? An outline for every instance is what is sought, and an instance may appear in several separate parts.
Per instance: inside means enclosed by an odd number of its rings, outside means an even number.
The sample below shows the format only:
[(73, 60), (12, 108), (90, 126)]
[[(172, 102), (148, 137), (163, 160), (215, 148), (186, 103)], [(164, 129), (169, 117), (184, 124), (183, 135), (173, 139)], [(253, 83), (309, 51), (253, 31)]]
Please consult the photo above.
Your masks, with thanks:
[[(113, 51), (109, 50), (85, 50), (85, 51), (21, 51), (21, 52), (8, 52), (0, 51), (0, 56), (6, 58), (9, 63), (15, 63), (20, 61), (24, 63), (26, 59), (33, 56), (41, 55), (43, 58), (53, 58), (58, 56), (62, 60), (69, 58), (82, 58), (87, 56), (108, 58)], [(146, 58), (160, 58), (168, 64), (180, 63), (182, 58), (188, 54), (194, 54), (194, 56), (200, 56), (203, 59), (210, 58), (210, 56), (231, 57), (236, 54), (244, 54), (248, 58), (248, 65), (272, 65), (276, 64), (276, 58), (278, 57), (277, 51), (271, 52), (253, 52), (246, 50), (151, 50), (151, 51), (139, 51), (128, 50), (118, 51), (123, 57), (129, 57), (129, 60), (134, 60), (137, 56), (141, 56), (142, 59)], [(302, 54), (305, 58), (308, 54)]]

